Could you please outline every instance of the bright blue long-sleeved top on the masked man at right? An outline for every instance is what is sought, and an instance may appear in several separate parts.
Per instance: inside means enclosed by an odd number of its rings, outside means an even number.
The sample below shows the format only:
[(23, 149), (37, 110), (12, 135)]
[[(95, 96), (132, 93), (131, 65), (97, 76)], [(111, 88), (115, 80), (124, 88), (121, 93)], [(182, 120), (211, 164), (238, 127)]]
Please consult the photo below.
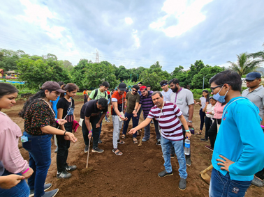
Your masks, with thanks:
[(212, 155), (214, 168), (221, 170), (219, 155), (234, 161), (228, 168), (231, 180), (250, 181), (264, 167), (264, 134), (258, 107), (245, 97), (235, 97), (223, 109), (221, 126)]

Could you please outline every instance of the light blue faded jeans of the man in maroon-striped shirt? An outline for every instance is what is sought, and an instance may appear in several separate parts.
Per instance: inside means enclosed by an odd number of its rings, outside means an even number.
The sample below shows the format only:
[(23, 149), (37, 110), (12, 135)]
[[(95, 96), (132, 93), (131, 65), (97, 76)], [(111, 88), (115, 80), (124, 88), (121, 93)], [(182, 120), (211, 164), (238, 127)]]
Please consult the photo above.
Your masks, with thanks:
[(179, 177), (180, 178), (187, 178), (186, 172), (186, 161), (184, 156), (184, 146), (182, 140), (180, 141), (171, 141), (168, 139), (163, 138), (161, 136), (161, 149), (164, 157), (164, 167), (167, 173), (171, 173), (173, 168), (171, 167), (170, 163), (170, 146), (173, 145), (175, 154), (177, 155), (177, 159), (179, 162)]

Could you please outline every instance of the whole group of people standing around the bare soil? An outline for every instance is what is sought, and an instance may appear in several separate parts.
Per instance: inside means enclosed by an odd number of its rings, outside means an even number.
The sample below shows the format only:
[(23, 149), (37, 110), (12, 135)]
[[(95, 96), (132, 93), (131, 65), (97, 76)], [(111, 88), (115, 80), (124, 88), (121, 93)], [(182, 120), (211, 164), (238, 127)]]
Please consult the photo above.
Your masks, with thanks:
[[(240, 75), (230, 70), (220, 72), (210, 79), (212, 97), (204, 90), (200, 102), (196, 103), (201, 106), (200, 131), (197, 134), (203, 132), (205, 122), (205, 138), (200, 140), (208, 141), (209, 138), (210, 148), (214, 150), (210, 196), (244, 196), (252, 180), (260, 181), (263, 178), (264, 150), (261, 144), (264, 134), (261, 127), (264, 126), (261, 126), (261, 118), (264, 111), (264, 88), (259, 84), (261, 76), (258, 73), (249, 73), (246, 81), (249, 88), (241, 95)], [(186, 189), (186, 165), (191, 166), (191, 152), (184, 155), (184, 140), (191, 139), (195, 101), (191, 91), (179, 84), (178, 79), (163, 80), (160, 82), (163, 91), (153, 92), (139, 82), (131, 91), (126, 92), (126, 84), (120, 83), (111, 95), (106, 92), (109, 83), (103, 82), (100, 88), (91, 91), (80, 112), (78, 124), (82, 126), (85, 152), (89, 149), (91, 137), (91, 151), (104, 151), (98, 148), (98, 144), (103, 143), (100, 138), (102, 121), (109, 117), (108, 104), (111, 103), (112, 152), (119, 156), (123, 154), (117, 145), (125, 143), (122, 139), (126, 138), (131, 118), (133, 128), (129, 134), (133, 134), (133, 143), (138, 143), (137, 133), (142, 128), (145, 128), (142, 141), (149, 140), (150, 124), (153, 121), (156, 145), (161, 145), (165, 167), (158, 176), (173, 175), (170, 158), (176, 155), (179, 163), (179, 189)], [(51, 161), (52, 134), (56, 135), (58, 146), (57, 178), (71, 177), (68, 171), (75, 170), (77, 166), (69, 166), (66, 160), (70, 141), (77, 141), (72, 133), (76, 122), (73, 97), (77, 90), (75, 84), (60, 86), (57, 82), (47, 81), (36, 95), (25, 102), (20, 111), (20, 116), (24, 118), (24, 134), (21, 139), (23, 148), (29, 151), (29, 164), (17, 148), (20, 128), (5, 113), (0, 112), (3, 125), (0, 129), (0, 196), (57, 194), (59, 189), (45, 191), (51, 187), (51, 184), (45, 184), (45, 178)], [(1, 83), (0, 111), (12, 107), (15, 97), (17, 89)], [(54, 103), (51, 105), (50, 101)], [(53, 110), (55, 105), (57, 111)], [(141, 110), (144, 121), (139, 124)], [(11, 177), (12, 174), (17, 175)], [(24, 178), (28, 178), (28, 184)]]

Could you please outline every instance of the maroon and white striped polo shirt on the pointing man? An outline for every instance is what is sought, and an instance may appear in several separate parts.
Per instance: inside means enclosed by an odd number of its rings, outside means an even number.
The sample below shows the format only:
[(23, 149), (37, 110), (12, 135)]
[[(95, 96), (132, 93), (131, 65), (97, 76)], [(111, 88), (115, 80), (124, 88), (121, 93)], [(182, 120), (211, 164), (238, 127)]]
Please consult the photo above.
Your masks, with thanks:
[[(176, 104), (172, 102), (165, 102), (164, 107), (152, 107), (149, 111), (147, 118), (155, 118), (159, 121), (159, 127), (161, 127), (161, 136), (171, 141), (183, 140), (182, 125), (179, 121), (179, 116), (182, 115), (182, 111), (179, 110)], [(161, 116), (161, 118), (159, 118)]]

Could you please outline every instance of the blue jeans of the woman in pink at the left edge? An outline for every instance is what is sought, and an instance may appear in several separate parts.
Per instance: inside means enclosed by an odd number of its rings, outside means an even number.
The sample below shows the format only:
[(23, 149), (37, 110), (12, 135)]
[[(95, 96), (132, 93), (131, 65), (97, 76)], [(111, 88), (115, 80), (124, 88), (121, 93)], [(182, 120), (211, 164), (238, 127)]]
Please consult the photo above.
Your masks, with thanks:
[[(11, 175), (8, 171), (4, 171), (2, 176)], [(21, 175), (17, 173), (17, 175)], [(26, 180), (21, 180), (16, 186), (10, 189), (0, 188), (0, 196), (2, 197), (28, 197), (30, 193), (29, 186), (27, 185)]]

